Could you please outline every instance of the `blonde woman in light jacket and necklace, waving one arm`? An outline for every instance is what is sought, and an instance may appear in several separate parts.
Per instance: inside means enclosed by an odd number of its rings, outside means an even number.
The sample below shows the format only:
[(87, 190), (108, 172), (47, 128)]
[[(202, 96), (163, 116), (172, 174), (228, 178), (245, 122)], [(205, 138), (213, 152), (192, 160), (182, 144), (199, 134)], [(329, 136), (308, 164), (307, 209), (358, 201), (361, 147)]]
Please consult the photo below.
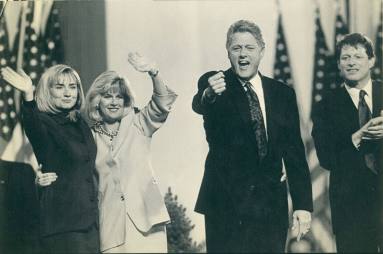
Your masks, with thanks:
[(134, 107), (128, 81), (114, 71), (100, 74), (86, 95), (85, 116), (97, 145), (101, 251), (167, 252), (170, 218), (152, 169), (150, 143), (177, 95), (146, 58), (135, 53), (128, 60), (153, 82), (143, 109)]

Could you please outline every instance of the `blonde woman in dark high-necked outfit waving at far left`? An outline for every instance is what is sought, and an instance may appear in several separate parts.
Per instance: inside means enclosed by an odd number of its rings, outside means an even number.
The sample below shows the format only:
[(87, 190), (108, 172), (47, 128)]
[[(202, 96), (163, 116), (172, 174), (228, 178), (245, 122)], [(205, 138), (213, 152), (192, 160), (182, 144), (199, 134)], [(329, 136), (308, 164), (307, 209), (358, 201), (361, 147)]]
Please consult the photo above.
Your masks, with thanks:
[(51, 184), (39, 190), (42, 251), (99, 252), (96, 145), (79, 114), (84, 95), (77, 72), (52, 66), (35, 96), (23, 71), (7, 67), (2, 75), (23, 93), (22, 121), (42, 172), (53, 171), (43, 174)]

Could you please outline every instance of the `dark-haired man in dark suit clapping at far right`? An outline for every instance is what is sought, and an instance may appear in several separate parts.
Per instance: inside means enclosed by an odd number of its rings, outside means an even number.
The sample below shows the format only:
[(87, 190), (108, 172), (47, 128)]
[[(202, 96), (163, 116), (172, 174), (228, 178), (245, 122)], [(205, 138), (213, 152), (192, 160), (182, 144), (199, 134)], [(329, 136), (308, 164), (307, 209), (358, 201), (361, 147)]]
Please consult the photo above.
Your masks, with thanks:
[(382, 83), (371, 80), (375, 58), (366, 36), (346, 35), (336, 45), (336, 57), (344, 85), (314, 106), (312, 135), (320, 164), (330, 170), (338, 252), (377, 252), (382, 226)]

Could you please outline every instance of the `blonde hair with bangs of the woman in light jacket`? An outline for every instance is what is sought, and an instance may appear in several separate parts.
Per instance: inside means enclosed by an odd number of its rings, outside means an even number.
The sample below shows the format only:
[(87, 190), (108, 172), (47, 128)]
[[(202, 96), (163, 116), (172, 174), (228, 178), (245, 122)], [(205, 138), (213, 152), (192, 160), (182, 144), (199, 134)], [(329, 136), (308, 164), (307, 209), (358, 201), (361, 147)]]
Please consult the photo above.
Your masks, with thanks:
[(92, 126), (102, 121), (99, 112), (101, 96), (115, 88), (118, 88), (123, 96), (125, 108), (134, 106), (135, 96), (129, 81), (115, 71), (105, 71), (93, 81), (85, 97), (84, 115), (89, 125)]

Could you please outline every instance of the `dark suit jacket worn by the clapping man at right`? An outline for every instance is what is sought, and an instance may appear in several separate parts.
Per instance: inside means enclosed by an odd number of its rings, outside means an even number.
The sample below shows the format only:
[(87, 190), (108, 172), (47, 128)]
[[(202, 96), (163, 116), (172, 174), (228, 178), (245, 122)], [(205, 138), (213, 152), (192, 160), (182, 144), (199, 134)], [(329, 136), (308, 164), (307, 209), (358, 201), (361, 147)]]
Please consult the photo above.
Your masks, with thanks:
[[(372, 116), (382, 108), (382, 84), (372, 84)], [(379, 142), (362, 142), (356, 149), (351, 136), (359, 127), (358, 109), (345, 87), (330, 91), (313, 109), (312, 136), (319, 162), (330, 170), (333, 230), (371, 230), (378, 227), (378, 176), (365, 165), (366, 149), (380, 158)], [(378, 170), (382, 171), (381, 161)]]

